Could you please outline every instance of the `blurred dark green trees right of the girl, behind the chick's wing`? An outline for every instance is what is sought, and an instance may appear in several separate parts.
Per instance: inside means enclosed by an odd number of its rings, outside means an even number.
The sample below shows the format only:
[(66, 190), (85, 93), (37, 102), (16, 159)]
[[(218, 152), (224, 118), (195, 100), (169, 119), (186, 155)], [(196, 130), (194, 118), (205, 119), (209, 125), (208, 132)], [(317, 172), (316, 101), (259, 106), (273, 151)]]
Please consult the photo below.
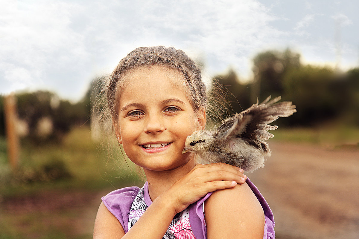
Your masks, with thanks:
[(214, 77), (230, 94), (230, 113), (241, 112), (267, 96), (281, 96), (297, 113), (280, 123), (319, 126), (328, 122), (359, 125), (359, 67), (346, 72), (304, 65), (289, 49), (266, 51), (253, 59), (253, 81), (241, 83), (233, 70)]

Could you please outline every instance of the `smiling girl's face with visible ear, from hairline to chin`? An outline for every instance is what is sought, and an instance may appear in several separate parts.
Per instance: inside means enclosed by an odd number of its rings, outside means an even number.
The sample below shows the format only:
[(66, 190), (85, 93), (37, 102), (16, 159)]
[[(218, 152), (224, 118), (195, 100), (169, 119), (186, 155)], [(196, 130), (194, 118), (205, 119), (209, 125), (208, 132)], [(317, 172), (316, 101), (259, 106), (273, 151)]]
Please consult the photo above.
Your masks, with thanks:
[(204, 129), (206, 120), (204, 111), (194, 112), (178, 83), (181, 73), (140, 67), (127, 77), (115, 122), (126, 155), (151, 171), (171, 170), (192, 160), (191, 154), (182, 154), (186, 137)]

